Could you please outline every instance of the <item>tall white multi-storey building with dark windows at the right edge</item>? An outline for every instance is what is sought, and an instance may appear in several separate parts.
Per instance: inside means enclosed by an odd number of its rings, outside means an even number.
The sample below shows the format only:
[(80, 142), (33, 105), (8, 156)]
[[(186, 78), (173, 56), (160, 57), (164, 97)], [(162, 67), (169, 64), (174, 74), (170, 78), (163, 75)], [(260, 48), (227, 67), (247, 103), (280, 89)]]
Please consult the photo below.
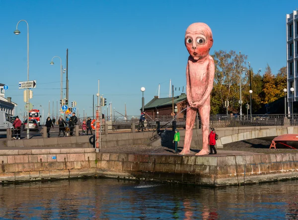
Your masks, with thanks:
[[(287, 84), (288, 109), (298, 113), (298, 10), (287, 14)], [(294, 92), (291, 92), (294, 88)], [(292, 106), (293, 103), (293, 106)]]

